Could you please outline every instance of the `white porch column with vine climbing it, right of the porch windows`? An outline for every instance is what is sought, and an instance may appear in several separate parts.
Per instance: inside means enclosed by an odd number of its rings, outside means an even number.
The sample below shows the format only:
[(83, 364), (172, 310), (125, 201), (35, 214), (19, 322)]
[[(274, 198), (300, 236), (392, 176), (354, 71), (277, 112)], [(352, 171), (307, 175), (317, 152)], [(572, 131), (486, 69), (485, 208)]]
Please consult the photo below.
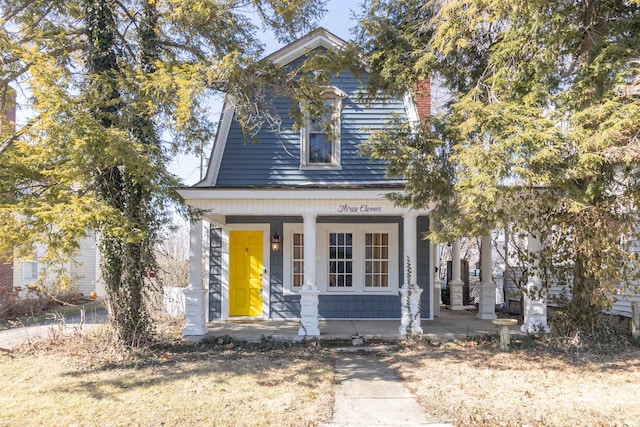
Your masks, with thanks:
[(422, 334), (420, 327), (420, 296), (422, 289), (416, 283), (418, 257), (418, 214), (410, 212), (402, 216), (404, 241), (404, 283), (400, 288), (401, 335)]

